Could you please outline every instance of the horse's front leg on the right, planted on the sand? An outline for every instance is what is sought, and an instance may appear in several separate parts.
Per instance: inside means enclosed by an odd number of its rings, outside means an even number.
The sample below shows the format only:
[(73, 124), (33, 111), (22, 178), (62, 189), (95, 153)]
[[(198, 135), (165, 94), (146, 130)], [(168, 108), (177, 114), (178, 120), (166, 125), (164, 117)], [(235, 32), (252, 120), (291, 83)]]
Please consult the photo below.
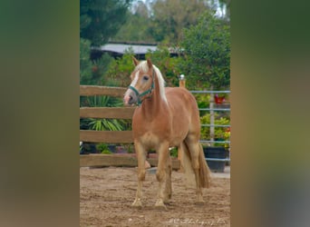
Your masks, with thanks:
[(157, 173), (156, 178), (160, 183), (159, 186), (159, 193), (158, 198), (155, 203), (156, 207), (159, 207), (160, 209), (163, 208), (167, 210), (166, 205), (164, 204), (165, 199), (167, 199), (167, 195), (165, 198), (165, 193), (167, 191), (166, 183), (167, 183), (167, 169), (168, 169), (168, 157), (170, 155), (169, 153), (169, 143), (164, 142), (160, 143), (160, 147), (157, 149), (157, 153), (159, 154), (159, 163), (157, 167)]

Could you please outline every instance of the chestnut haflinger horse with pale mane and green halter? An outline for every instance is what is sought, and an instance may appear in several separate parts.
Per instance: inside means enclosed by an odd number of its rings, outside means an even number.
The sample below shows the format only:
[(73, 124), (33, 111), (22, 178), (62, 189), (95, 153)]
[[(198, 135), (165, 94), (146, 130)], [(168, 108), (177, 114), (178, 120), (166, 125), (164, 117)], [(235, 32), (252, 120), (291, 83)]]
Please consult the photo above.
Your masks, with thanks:
[[(145, 180), (145, 160), (150, 149), (159, 155), (156, 178), (160, 183), (156, 207), (167, 210), (171, 198), (170, 147), (178, 147), (185, 173), (195, 173), (197, 203), (204, 203), (201, 188), (208, 188), (210, 171), (199, 143), (199, 109), (195, 97), (181, 87), (164, 87), (158, 67), (148, 59), (139, 62), (131, 85), (124, 94), (124, 104), (138, 104), (132, 116), (132, 132), (138, 158), (138, 189), (132, 206), (142, 207), (141, 190)], [(187, 174), (188, 175), (188, 174)]]

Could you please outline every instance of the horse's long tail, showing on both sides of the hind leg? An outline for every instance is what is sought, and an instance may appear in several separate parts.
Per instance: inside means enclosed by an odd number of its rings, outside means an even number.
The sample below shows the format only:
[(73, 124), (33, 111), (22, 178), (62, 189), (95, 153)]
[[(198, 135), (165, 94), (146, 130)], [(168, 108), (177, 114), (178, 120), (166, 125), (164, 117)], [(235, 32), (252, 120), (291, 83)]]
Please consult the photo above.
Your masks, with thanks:
[[(186, 174), (186, 178), (188, 180), (189, 185), (194, 185), (195, 177), (193, 176), (194, 170), (192, 167), (191, 156), (189, 153), (189, 148), (186, 143), (181, 143), (179, 147), (179, 152), (181, 154), (181, 168)], [(199, 143), (199, 182), (200, 186), (203, 188), (208, 188), (210, 183), (210, 170), (208, 169), (208, 165), (205, 159), (205, 154), (203, 153), (203, 149), (201, 144)]]

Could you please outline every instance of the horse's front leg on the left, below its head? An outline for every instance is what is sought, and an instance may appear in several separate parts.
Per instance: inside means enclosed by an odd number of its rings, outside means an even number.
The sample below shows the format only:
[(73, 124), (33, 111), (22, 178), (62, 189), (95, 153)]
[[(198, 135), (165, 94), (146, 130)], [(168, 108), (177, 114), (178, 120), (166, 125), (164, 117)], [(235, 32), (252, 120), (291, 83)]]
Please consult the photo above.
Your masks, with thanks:
[(132, 202), (132, 206), (141, 208), (142, 202), (142, 182), (145, 180), (145, 149), (141, 143), (135, 141), (134, 143), (135, 151), (138, 158), (138, 188), (136, 193), (136, 199)]

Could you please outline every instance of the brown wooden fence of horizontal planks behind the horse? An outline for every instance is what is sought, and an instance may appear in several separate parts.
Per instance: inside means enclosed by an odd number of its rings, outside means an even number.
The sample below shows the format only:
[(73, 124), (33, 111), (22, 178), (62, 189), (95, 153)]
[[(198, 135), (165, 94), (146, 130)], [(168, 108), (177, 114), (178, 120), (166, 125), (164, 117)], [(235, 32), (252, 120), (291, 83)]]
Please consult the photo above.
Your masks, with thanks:
[[(122, 97), (127, 88), (80, 85), (80, 96), (108, 95)], [(80, 118), (132, 119), (136, 107), (81, 107)], [(80, 141), (90, 143), (133, 143), (132, 131), (80, 130)], [(157, 166), (157, 159), (147, 159)], [(137, 166), (132, 156), (113, 154), (82, 154), (80, 166)], [(179, 160), (172, 160), (172, 168), (179, 169)]]

